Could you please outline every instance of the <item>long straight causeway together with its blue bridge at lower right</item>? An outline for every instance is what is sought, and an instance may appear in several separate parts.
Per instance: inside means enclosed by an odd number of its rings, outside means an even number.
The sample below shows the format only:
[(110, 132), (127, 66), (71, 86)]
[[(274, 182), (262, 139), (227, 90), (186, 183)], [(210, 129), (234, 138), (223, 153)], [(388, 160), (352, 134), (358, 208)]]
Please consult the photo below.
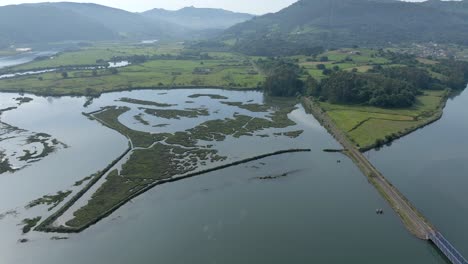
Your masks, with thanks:
[(344, 148), (343, 153), (353, 160), (367, 177), (369, 183), (374, 185), (382, 197), (387, 200), (408, 231), (422, 240), (432, 241), (453, 264), (468, 264), (460, 252), (372, 165), (319, 106), (308, 98), (303, 98), (303, 105), (340, 142)]

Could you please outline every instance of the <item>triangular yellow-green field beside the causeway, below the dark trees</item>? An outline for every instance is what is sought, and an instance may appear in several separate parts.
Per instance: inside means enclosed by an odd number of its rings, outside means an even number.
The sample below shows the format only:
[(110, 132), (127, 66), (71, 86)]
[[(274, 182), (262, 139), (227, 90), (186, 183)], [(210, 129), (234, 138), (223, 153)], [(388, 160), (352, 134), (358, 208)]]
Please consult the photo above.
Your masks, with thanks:
[(414, 107), (385, 109), (360, 105), (335, 105), (322, 102), (320, 107), (359, 148), (369, 148), (378, 140), (397, 138), (424, 125), (442, 111), (446, 91), (425, 91)]

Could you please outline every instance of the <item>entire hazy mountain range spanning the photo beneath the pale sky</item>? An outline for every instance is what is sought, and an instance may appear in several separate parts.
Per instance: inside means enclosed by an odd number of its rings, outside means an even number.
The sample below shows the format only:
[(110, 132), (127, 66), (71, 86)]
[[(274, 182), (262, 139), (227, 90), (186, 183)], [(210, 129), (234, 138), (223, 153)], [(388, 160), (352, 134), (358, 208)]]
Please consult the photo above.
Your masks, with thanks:
[(467, 28), (468, 0), (300, 0), (259, 17), (194, 7), (132, 13), (68, 2), (0, 7), (0, 46), (66, 40), (214, 38), (236, 43), (235, 49), (248, 54), (282, 55), (317, 46), (428, 41), (468, 44)]

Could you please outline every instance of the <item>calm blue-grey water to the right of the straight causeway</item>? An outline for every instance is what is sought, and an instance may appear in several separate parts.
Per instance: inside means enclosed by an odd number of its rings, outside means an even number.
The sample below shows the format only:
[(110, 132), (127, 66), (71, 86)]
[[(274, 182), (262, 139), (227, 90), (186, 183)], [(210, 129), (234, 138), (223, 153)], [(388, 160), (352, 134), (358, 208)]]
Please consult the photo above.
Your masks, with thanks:
[(468, 90), (435, 124), (369, 153), (424, 215), (468, 257)]

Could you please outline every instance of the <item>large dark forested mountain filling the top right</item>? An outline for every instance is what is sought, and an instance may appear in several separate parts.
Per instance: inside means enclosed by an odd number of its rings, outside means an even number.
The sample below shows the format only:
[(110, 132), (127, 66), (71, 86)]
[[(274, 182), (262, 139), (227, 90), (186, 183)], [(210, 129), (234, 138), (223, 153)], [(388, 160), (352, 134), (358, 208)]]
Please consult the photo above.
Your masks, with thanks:
[(455, 4), (444, 2), (446, 7), (441, 8), (396, 0), (301, 0), (278, 13), (237, 24), (227, 29), (222, 39), (237, 40), (239, 51), (262, 55), (313, 46), (428, 41), (468, 44), (468, 15), (449, 12)]

